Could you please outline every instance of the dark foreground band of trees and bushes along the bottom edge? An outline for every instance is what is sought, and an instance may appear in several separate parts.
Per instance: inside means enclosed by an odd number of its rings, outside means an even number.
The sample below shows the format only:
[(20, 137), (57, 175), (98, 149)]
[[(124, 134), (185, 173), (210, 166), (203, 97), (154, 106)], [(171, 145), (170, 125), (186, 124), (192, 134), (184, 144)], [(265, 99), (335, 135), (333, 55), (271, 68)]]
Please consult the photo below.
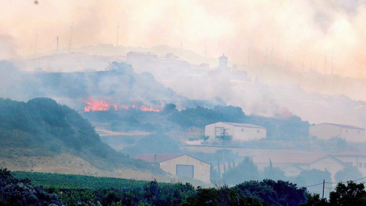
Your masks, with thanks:
[[(45, 180), (46, 181), (46, 180)], [(329, 198), (310, 193), (289, 181), (264, 179), (244, 181), (233, 187), (214, 182), (212, 187), (193, 187), (190, 183), (158, 183), (112, 188), (64, 188), (34, 186), (30, 180), (14, 178), (7, 169), (0, 169), (0, 205), (288, 205), (338, 206), (365, 205), (363, 183), (338, 183)]]

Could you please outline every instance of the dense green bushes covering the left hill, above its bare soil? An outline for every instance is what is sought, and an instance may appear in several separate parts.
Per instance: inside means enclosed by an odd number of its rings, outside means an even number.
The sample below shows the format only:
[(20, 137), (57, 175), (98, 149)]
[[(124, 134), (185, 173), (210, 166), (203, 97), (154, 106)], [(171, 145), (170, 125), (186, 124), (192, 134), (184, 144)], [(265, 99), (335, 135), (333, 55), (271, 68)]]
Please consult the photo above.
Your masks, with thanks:
[(49, 98), (18, 102), (0, 98), (0, 156), (52, 156), (70, 152), (100, 169), (135, 167), (160, 171), (102, 143), (75, 110)]

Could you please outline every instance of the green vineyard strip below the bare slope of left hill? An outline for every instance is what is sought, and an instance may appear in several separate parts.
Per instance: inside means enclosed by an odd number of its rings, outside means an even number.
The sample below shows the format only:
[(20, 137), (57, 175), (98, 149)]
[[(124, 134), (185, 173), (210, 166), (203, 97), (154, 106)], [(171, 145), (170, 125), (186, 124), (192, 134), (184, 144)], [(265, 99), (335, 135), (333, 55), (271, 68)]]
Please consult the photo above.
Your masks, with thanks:
[[(57, 188), (116, 188), (132, 189), (142, 187), (147, 181), (122, 179), (115, 177), (94, 177), (78, 174), (57, 174), (41, 172), (22, 172), (14, 171), (11, 174), (18, 179), (30, 179), (34, 185)], [(168, 184), (168, 183), (161, 183)]]

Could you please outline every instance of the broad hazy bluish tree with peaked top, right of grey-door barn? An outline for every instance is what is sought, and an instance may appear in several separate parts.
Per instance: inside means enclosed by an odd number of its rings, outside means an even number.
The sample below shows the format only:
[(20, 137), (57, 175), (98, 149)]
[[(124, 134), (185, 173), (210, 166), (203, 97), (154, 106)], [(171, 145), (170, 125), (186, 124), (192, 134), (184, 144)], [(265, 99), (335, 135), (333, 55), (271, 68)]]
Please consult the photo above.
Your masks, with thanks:
[(257, 165), (249, 157), (245, 157), (235, 168), (225, 173), (223, 179), (228, 184), (238, 184), (249, 180), (259, 180), (260, 174)]

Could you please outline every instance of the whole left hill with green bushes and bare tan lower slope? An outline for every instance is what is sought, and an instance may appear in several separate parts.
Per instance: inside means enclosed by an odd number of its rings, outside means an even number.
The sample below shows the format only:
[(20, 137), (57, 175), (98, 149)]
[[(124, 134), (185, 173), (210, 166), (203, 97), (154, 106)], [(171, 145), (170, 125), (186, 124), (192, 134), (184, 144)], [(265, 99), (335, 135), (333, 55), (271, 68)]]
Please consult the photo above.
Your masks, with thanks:
[(0, 99), (0, 167), (140, 179), (164, 173), (102, 143), (75, 110), (49, 98)]

